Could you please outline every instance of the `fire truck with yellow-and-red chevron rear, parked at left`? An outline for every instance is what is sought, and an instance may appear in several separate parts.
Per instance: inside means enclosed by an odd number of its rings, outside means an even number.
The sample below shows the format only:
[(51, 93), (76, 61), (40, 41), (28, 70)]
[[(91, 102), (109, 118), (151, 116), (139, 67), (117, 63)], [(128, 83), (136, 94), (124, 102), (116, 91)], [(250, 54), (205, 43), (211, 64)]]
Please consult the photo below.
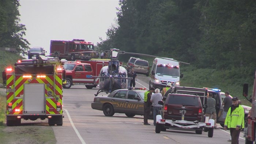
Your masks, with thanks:
[(63, 124), (62, 67), (58, 58), (39, 56), (19, 60), (5, 69), (7, 126), (20, 125), (22, 118), (48, 118), (49, 125)]

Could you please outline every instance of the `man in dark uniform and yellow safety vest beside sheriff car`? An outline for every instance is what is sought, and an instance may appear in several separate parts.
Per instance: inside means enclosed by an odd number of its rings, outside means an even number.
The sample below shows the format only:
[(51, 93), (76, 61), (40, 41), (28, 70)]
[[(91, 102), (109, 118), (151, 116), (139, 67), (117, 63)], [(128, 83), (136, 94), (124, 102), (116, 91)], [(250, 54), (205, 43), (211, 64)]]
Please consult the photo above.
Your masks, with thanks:
[(150, 109), (152, 102), (150, 102), (152, 92), (154, 92), (155, 88), (151, 87), (148, 91), (144, 93), (144, 125), (150, 125), (148, 124), (148, 117), (150, 114)]

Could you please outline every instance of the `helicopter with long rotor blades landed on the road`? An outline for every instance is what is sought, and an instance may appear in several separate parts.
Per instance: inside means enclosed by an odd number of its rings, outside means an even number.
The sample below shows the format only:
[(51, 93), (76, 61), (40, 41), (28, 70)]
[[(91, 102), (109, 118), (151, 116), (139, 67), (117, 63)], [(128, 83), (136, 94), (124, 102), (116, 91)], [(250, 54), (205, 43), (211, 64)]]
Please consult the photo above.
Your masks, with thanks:
[[(97, 51), (91, 51), (91, 52), (97, 52)], [(81, 52), (72, 52), (72, 53), (81, 53)], [(82, 53), (88, 53), (88, 52), (82, 52)], [(158, 56), (153, 56), (149, 54), (124, 52), (119, 49), (105, 50), (105, 53), (110, 55), (110, 61), (108, 63), (108, 66), (104, 66), (101, 68), (99, 76), (92, 76), (94, 77), (94, 79), (99, 78), (99, 90), (97, 91), (96, 94), (94, 94), (95, 96), (97, 96), (101, 92), (106, 92), (108, 94), (117, 89), (128, 88), (127, 80), (132, 78), (128, 78), (127, 69), (123, 65), (120, 65), (120, 62), (118, 61), (118, 56), (120, 54), (133, 54), (138, 56), (158, 57)], [(158, 57), (158, 58), (170, 60), (170, 58), (164, 58), (164, 57)], [(172, 60), (172, 61), (177, 61), (177, 60)], [(183, 64), (189, 64), (187, 62), (181, 62), (181, 61), (177, 61), (177, 62), (180, 62)]]

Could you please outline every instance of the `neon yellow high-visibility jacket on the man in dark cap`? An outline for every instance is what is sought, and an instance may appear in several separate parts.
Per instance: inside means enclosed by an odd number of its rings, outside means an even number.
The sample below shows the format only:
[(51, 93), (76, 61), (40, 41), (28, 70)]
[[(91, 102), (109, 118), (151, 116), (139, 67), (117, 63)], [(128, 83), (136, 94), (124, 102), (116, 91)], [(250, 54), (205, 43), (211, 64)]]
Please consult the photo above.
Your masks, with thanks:
[(237, 126), (241, 129), (244, 128), (244, 108), (239, 105), (236, 109), (231, 112), (231, 107), (227, 111), (227, 116), (224, 126), (227, 128), (236, 128)]

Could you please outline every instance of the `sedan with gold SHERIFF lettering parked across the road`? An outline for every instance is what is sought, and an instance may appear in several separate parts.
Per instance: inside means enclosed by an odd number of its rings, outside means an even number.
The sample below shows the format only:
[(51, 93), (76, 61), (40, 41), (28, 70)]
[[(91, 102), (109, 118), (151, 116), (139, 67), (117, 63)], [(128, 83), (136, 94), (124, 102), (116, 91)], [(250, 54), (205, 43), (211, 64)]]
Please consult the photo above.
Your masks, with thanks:
[[(128, 87), (115, 90), (108, 96), (95, 96), (91, 108), (102, 110), (106, 116), (113, 116), (114, 113), (124, 113), (127, 117), (144, 115), (145, 90), (146, 88)], [(153, 119), (153, 106), (149, 118)]]

